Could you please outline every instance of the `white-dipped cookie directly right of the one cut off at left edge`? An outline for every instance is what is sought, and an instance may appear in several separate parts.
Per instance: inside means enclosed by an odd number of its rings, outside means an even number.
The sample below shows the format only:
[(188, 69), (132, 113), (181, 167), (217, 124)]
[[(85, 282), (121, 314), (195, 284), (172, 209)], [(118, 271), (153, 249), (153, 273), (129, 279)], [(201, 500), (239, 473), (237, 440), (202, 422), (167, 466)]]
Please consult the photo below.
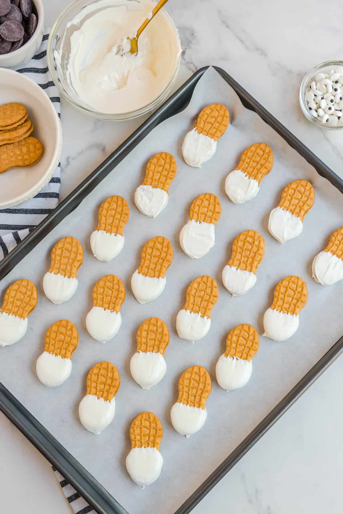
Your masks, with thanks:
[(116, 275), (105, 275), (92, 292), (93, 307), (86, 317), (90, 336), (99, 343), (110, 341), (121, 327), (120, 308), (125, 300), (125, 287)]

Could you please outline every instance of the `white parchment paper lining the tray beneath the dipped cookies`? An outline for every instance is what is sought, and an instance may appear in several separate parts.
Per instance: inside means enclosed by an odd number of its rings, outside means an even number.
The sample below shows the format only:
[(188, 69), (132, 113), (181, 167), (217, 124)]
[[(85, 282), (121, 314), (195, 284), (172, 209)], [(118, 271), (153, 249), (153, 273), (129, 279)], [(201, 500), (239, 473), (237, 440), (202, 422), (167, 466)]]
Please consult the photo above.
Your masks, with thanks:
[[(219, 141), (212, 160), (201, 170), (193, 169), (184, 163), (180, 146), (198, 112), (212, 102), (227, 105), (231, 124)], [(225, 177), (237, 166), (246, 146), (259, 140), (272, 146), (274, 169), (263, 180), (254, 200), (242, 206), (233, 205), (224, 192)], [(301, 146), (299, 150), (304, 152)], [(146, 162), (158, 151), (171, 152), (176, 158), (178, 171), (170, 187), (167, 208), (155, 220), (151, 220), (138, 212), (133, 203), (133, 194), (144, 176)], [(306, 158), (311, 160), (311, 154), (306, 154)], [(325, 167), (321, 171), (327, 173)], [(280, 245), (267, 231), (268, 215), (278, 204), (283, 187), (296, 178), (306, 178), (313, 183), (315, 205), (305, 218), (301, 236)], [(339, 186), (339, 180), (336, 181)], [(215, 247), (204, 258), (193, 261), (180, 249), (178, 234), (187, 222), (193, 198), (207, 191), (219, 196), (222, 217), (216, 225)], [(123, 251), (116, 260), (100, 263), (92, 257), (89, 235), (97, 225), (98, 207), (109, 194), (124, 196), (131, 214), (124, 232)], [(282, 401), (299, 380), (303, 382), (297, 394), (305, 389), (316, 372), (319, 373), (318, 366), (314, 371), (311, 370), (312, 366), (330, 351), (340, 337), (342, 326), (337, 298), (341, 284), (328, 288), (315, 284), (311, 279), (311, 263), (314, 255), (326, 246), (330, 233), (341, 226), (342, 219), (343, 206), (338, 189), (320, 177), (260, 116), (245, 108), (218, 72), (209, 69), (198, 81), (185, 111), (158, 125), (73, 213), (48, 233), (2, 280), (2, 293), (11, 282), (21, 277), (33, 280), (40, 293), (39, 304), (30, 316), (25, 339), (3, 349), (0, 360), (2, 382), (125, 509), (135, 512), (139, 505), (140, 512), (150, 512), (152, 505), (163, 505), (166, 512), (173, 512), (196, 487), (201, 486), (205, 491), (206, 484), (202, 483), (209, 472), (221, 464), (223, 454), (235, 452), (244, 437), (268, 416), (268, 412)], [(259, 230), (265, 238), (265, 258), (257, 273), (256, 286), (248, 295), (231, 299), (222, 286), (221, 271), (229, 259), (233, 238), (247, 228)], [(139, 264), (141, 247), (150, 237), (159, 234), (166, 235), (172, 242), (174, 261), (167, 271), (163, 296), (141, 306), (132, 295), (130, 279)], [(49, 253), (53, 244), (65, 235), (79, 238), (85, 259), (79, 270), (76, 295), (66, 304), (55, 306), (44, 296), (42, 278), (49, 267)], [(88, 335), (84, 319), (92, 306), (93, 285), (106, 273), (121, 277), (127, 288), (127, 299), (121, 309), (123, 324), (119, 334), (113, 341), (101, 345)], [(189, 282), (200, 274), (211, 274), (217, 280), (220, 299), (212, 311), (208, 336), (192, 346), (178, 339), (175, 317), (184, 303)], [(249, 383), (241, 390), (226, 393), (216, 384), (214, 368), (225, 349), (227, 333), (242, 322), (251, 323), (261, 331), (262, 317), (272, 303), (274, 287), (288, 274), (299, 274), (309, 288), (309, 301), (300, 314), (300, 327), (296, 335), (284, 343), (261, 337)], [(156, 388), (147, 392), (141, 390), (131, 378), (129, 363), (135, 351), (137, 328), (150, 316), (159, 316), (166, 321), (171, 342), (165, 355), (167, 374)], [(73, 373), (68, 381), (55, 390), (47, 390), (35, 376), (35, 360), (43, 351), (47, 328), (64, 317), (78, 326), (80, 345), (73, 357)], [(337, 355), (338, 346), (335, 352), (327, 356), (327, 363)], [(80, 425), (77, 411), (79, 401), (85, 394), (87, 372), (99, 360), (111, 360), (117, 366), (121, 374), (121, 388), (112, 425), (95, 437)], [(169, 413), (176, 401), (179, 375), (194, 363), (202, 364), (209, 370), (213, 389), (207, 401), (208, 419), (204, 428), (186, 440), (173, 430)], [(304, 375), (310, 370), (312, 373), (304, 380)], [(291, 405), (295, 397), (295, 394), (290, 396), (284, 408)], [(158, 481), (141, 491), (131, 482), (125, 470), (125, 457), (130, 450), (130, 423), (137, 413), (144, 410), (155, 412), (163, 423), (165, 434), (161, 453), (165, 462)], [(274, 411), (268, 419), (269, 425), (281, 410)], [(248, 447), (247, 441), (244, 447), (239, 447), (237, 456), (242, 456)], [(189, 511), (201, 494), (201, 491), (198, 492), (196, 498), (189, 502), (185, 507), (188, 510), (180, 512)], [(107, 495), (100, 491), (100, 496), (104, 498)], [(118, 511), (116, 508), (113, 505), (113, 512)]]

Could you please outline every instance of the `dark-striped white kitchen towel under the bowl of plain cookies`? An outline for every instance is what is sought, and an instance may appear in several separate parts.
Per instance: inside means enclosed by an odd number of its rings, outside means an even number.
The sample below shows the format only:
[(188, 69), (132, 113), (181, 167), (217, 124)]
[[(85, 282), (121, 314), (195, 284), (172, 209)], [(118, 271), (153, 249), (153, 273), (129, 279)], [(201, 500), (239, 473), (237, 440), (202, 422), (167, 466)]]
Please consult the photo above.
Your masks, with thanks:
[[(61, 118), (61, 101), (59, 90), (51, 80), (47, 66), (46, 47), (50, 29), (46, 29), (43, 42), (37, 55), (17, 68), (19, 73), (27, 75), (38, 83), (50, 98)], [(61, 163), (50, 182), (33, 198), (23, 204), (0, 210), (0, 261), (20, 243), (58, 204), (61, 185)]]

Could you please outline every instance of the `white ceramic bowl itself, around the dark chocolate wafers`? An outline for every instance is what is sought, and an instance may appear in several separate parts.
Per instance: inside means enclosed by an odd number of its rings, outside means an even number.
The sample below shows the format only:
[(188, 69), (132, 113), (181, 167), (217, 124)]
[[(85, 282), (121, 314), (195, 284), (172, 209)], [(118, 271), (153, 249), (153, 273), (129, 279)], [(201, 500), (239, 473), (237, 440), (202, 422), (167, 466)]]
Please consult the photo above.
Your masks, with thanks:
[(37, 9), (38, 14), (37, 28), (25, 45), (14, 50), (14, 52), (5, 53), (3, 56), (0, 56), (0, 68), (16, 68), (17, 66), (26, 63), (32, 59), (42, 44), (44, 33), (43, 2), (42, 0), (32, 0), (32, 2)]

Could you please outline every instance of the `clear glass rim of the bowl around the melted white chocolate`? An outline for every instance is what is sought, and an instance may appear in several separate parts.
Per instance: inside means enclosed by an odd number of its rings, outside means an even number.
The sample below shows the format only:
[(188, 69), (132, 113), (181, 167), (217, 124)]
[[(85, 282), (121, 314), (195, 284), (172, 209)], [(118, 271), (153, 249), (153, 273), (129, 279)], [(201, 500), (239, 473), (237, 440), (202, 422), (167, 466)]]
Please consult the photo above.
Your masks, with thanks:
[(182, 53), (180, 35), (178, 33), (178, 30), (177, 30), (177, 28), (176, 28), (176, 26), (175, 26), (171, 16), (168, 14), (168, 12), (165, 9), (161, 9), (161, 11), (163, 12), (163, 15), (166, 16), (167, 20), (169, 21), (169, 23), (174, 28), (175, 35), (176, 35), (176, 38), (177, 38), (177, 42), (178, 42), (179, 49), (180, 49), (180, 51), (178, 53), (178, 56), (177, 56), (177, 59), (176, 59), (173, 75), (171, 76), (171, 79), (170, 79), (169, 83), (166, 85), (166, 87), (164, 87), (163, 90), (161, 90), (160, 94), (152, 102), (148, 103), (147, 105), (143, 105), (142, 107), (139, 107), (139, 109), (135, 109), (134, 111), (128, 111), (126, 113), (111, 113), (111, 114), (107, 114), (107, 113), (101, 113), (100, 111), (95, 111), (95, 109), (92, 109), (91, 107), (89, 107), (89, 108), (84, 107), (83, 105), (80, 105), (79, 103), (77, 103), (63, 89), (63, 87), (61, 87), (61, 85), (59, 83), (59, 80), (57, 80), (57, 78), (56, 78), (55, 67), (53, 66), (52, 41), (53, 41), (53, 38), (55, 37), (55, 31), (56, 31), (56, 28), (57, 28), (58, 24), (67, 15), (69, 9), (75, 8), (75, 4), (76, 3), (77, 2), (72, 2), (71, 4), (69, 4), (61, 12), (61, 14), (58, 16), (56, 22), (53, 24), (53, 27), (52, 27), (52, 29), (50, 31), (50, 35), (49, 35), (49, 39), (48, 39), (48, 44), (47, 44), (48, 69), (50, 71), (50, 75), (52, 77), (53, 82), (55, 83), (56, 87), (60, 91), (60, 94), (66, 100), (68, 100), (68, 102), (70, 102), (72, 105), (74, 105), (74, 107), (76, 107), (79, 111), (81, 111), (82, 113), (85, 113), (88, 116), (91, 116), (93, 118), (100, 119), (100, 120), (105, 120), (105, 121), (131, 120), (131, 119), (134, 119), (134, 118), (138, 118), (139, 116), (142, 116), (143, 114), (147, 114), (150, 111), (152, 111), (153, 109), (155, 109), (156, 107), (158, 107), (166, 99), (166, 97), (168, 96), (168, 93), (170, 92), (171, 88), (173, 87), (173, 84), (174, 84), (176, 76), (177, 76), (177, 72), (178, 72), (179, 67), (180, 67), (181, 53)]

